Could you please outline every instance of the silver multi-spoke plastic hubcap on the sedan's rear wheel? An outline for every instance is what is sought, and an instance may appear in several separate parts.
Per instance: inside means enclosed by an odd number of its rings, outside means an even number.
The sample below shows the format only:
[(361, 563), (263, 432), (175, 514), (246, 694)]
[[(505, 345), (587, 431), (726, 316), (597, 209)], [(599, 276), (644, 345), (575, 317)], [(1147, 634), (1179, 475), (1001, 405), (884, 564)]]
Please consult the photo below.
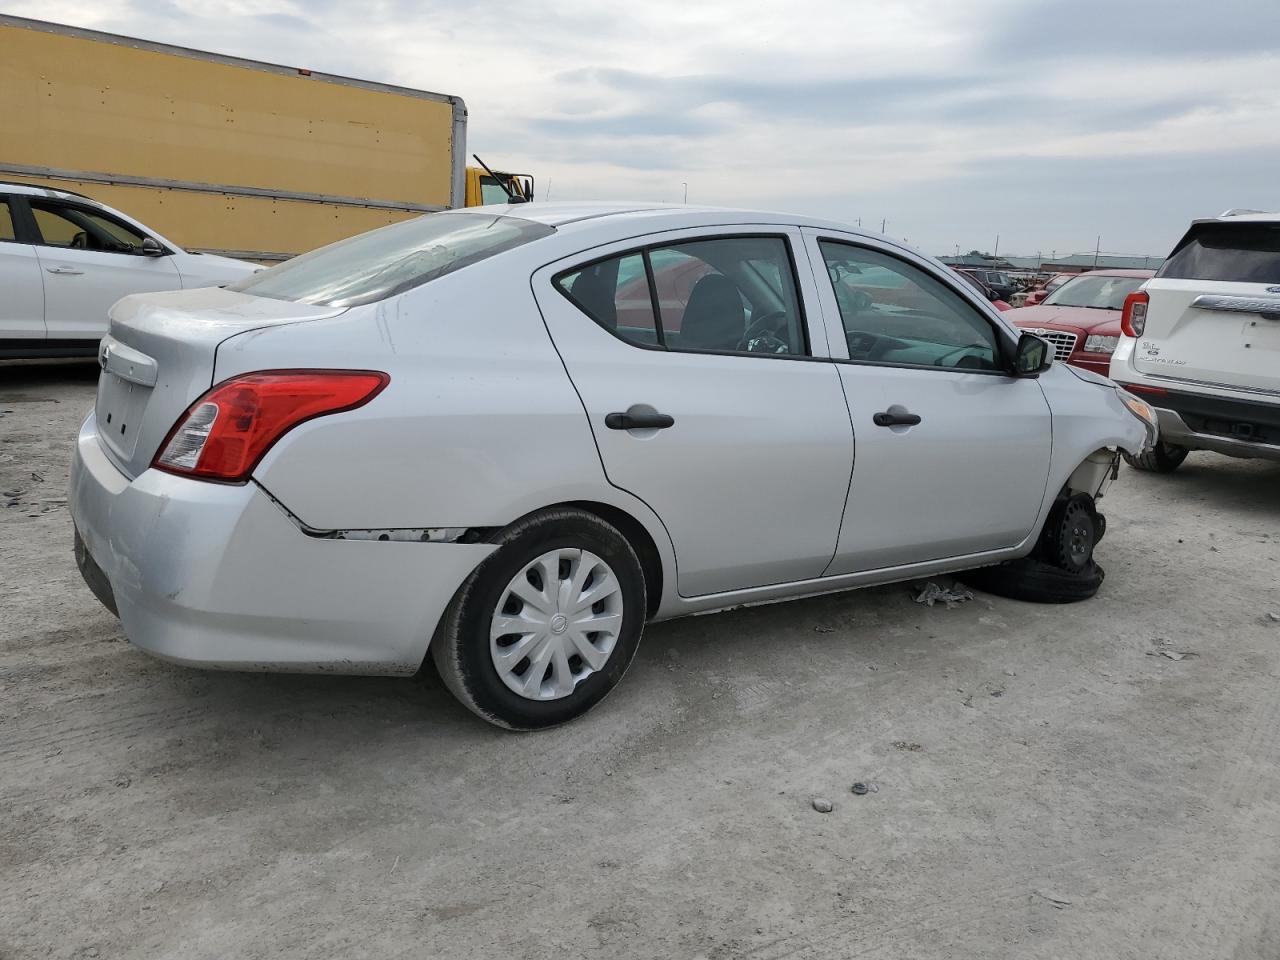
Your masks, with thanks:
[(489, 628), (494, 669), (529, 700), (568, 696), (622, 634), (622, 588), (588, 550), (544, 553), (507, 584)]

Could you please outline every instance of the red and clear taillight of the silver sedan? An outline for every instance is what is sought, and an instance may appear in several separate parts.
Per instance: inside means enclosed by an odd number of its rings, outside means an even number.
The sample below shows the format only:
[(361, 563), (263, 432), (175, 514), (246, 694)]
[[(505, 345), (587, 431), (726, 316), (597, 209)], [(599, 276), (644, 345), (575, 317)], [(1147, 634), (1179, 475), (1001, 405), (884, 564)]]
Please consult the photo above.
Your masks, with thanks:
[(187, 408), (151, 466), (243, 483), (294, 426), (361, 407), (388, 383), (390, 378), (375, 370), (264, 370), (233, 378)]

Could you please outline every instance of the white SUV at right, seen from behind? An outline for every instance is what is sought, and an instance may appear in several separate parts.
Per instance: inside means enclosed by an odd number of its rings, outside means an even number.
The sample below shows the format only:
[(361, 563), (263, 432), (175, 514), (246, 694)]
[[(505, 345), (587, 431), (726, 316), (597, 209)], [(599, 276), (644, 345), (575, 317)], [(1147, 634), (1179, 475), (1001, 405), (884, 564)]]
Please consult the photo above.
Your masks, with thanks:
[(1120, 326), (1111, 379), (1160, 416), (1160, 444), (1130, 465), (1167, 474), (1188, 451), (1280, 460), (1280, 214), (1193, 221)]

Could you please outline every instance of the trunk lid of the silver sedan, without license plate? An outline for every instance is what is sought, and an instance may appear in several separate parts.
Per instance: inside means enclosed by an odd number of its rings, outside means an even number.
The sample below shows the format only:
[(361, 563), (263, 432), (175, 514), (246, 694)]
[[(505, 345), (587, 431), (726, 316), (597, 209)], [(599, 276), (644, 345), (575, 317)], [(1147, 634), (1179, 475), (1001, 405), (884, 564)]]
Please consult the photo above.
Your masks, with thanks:
[(220, 343), (342, 312), (220, 288), (125, 297), (113, 307), (99, 347), (95, 413), (104, 449), (125, 475), (137, 476), (183, 411), (212, 385)]

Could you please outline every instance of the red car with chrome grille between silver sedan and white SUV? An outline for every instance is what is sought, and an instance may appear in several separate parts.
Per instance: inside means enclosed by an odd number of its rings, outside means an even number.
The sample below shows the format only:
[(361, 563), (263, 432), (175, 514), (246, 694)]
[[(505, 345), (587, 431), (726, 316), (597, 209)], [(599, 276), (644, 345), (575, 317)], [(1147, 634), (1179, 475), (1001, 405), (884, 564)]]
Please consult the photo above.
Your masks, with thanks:
[(1050, 293), (1042, 303), (1006, 315), (1053, 344), (1053, 358), (1107, 376), (1120, 338), (1124, 300), (1155, 270), (1091, 270)]

